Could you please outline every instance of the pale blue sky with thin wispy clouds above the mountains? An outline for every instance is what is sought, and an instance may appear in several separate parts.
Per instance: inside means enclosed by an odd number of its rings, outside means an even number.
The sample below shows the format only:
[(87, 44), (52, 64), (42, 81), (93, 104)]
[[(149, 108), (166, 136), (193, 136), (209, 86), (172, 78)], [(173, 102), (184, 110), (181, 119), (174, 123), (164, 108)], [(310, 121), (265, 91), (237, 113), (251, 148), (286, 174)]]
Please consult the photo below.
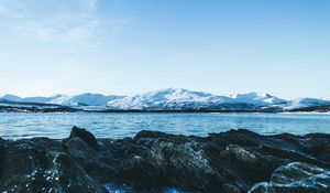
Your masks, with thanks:
[(0, 95), (330, 96), (328, 0), (0, 0)]

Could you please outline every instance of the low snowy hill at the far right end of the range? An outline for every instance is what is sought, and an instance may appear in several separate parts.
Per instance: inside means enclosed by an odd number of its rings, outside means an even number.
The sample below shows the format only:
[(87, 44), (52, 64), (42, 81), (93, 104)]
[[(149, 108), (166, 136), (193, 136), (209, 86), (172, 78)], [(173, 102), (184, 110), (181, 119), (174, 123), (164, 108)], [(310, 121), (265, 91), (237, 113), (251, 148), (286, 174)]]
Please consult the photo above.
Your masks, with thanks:
[(295, 100), (290, 100), (283, 108), (286, 110), (292, 110), (292, 109), (322, 106), (322, 105), (330, 105), (330, 100), (317, 99), (317, 98), (298, 98)]

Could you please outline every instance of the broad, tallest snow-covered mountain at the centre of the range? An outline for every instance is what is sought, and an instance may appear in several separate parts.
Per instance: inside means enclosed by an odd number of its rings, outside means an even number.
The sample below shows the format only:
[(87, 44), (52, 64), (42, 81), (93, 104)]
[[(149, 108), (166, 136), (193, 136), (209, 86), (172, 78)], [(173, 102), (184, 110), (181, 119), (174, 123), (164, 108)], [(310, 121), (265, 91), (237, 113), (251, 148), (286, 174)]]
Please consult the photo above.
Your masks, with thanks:
[(228, 103), (229, 100), (229, 97), (215, 96), (208, 93), (166, 88), (112, 100), (108, 103), (108, 106), (114, 109), (182, 109), (183, 107), (199, 108), (209, 104)]

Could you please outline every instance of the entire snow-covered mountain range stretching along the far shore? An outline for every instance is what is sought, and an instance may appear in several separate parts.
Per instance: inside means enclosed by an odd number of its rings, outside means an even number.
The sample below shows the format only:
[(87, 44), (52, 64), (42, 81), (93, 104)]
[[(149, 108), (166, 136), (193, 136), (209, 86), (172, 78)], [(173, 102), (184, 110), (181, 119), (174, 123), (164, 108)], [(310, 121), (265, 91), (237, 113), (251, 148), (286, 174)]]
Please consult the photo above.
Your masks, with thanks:
[(1, 104), (54, 105), (80, 110), (330, 111), (330, 99), (327, 98), (287, 100), (257, 93), (219, 96), (183, 88), (166, 88), (134, 96), (86, 93), (22, 98), (4, 95), (0, 97)]

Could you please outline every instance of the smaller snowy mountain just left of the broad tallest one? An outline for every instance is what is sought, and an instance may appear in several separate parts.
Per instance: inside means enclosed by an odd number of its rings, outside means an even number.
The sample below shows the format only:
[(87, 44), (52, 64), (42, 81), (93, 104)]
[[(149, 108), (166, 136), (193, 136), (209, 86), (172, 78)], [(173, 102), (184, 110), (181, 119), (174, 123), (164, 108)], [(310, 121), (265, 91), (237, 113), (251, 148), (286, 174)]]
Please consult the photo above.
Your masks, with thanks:
[(122, 98), (121, 96), (110, 95), (105, 96), (101, 94), (86, 93), (76, 96), (61, 96), (51, 101), (50, 104), (65, 105), (65, 106), (103, 106), (108, 101)]

